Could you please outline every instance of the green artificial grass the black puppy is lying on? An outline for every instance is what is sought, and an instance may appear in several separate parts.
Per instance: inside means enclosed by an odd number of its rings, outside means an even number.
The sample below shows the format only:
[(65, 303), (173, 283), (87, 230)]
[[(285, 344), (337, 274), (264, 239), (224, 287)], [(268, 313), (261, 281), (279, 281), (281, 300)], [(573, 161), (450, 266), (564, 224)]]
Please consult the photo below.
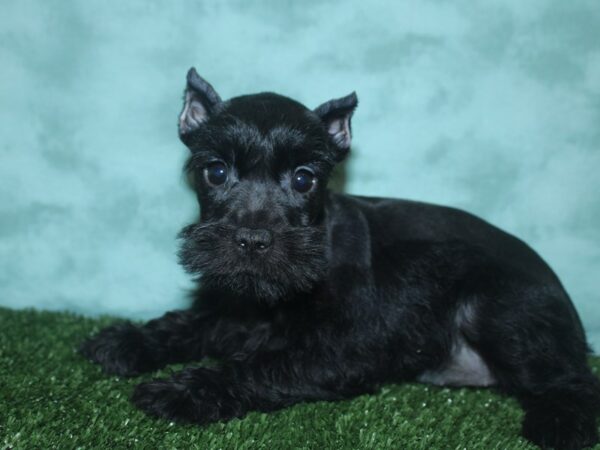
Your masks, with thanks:
[[(147, 417), (128, 401), (142, 379), (103, 374), (75, 351), (114, 319), (0, 308), (3, 448), (527, 449), (522, 411), (484, 389), (390, 385), (377, 395), (299, 404), (207, 427)], [(595, 371), (600, 359), (592, 358)], [(597, 446), (596, 448), (600, 448)]]

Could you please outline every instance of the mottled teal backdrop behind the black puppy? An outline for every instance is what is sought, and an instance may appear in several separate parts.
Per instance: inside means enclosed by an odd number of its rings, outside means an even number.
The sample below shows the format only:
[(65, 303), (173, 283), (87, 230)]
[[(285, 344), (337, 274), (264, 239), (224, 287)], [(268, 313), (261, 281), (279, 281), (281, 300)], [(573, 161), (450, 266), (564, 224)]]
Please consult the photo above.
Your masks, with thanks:
[(0, 0), (0, 305), (183, 307), (187, 69), (223, 97), (356, 90), (344, 189), (443, 203), (545, 257), (600, 349), (597, 0)]

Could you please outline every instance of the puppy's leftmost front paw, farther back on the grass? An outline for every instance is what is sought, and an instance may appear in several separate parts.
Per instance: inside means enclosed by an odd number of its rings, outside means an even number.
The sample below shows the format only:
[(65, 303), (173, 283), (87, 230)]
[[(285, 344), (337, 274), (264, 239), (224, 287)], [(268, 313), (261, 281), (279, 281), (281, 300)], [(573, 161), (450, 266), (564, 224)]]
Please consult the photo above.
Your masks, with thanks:
[(128, 322), (105, 328), (87, 339), (79, 353), (109, 374), (132, 376), (161, 367), (151, 340)]

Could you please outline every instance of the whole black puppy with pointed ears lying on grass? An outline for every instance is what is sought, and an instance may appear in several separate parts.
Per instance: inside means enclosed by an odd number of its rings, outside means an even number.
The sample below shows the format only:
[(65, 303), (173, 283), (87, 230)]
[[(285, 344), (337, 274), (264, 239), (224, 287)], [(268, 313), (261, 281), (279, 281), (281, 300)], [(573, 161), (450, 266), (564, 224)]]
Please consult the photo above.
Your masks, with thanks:
[(600, 383), (560, 281), (526, 244), (468, 213), (327, 190), (354, 93), (311, 111), (263, 93), (222, 101), (191, 69), (179, 134), (201, 206), (181, 262), (195, 306), (82, 346), (109, 373), (222, 360), (137, 386), (150, 414), (207, 423), (382, 383), (496, 386), (544, 447), (598, 441)]

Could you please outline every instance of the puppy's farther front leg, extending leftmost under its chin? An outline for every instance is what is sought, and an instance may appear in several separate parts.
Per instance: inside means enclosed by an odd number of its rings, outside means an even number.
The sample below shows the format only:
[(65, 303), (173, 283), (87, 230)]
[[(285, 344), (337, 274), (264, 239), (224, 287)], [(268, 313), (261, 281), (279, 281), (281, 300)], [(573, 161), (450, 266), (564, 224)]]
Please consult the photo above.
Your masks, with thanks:
[(79, 351), (107, 373), (137, 375), (201, 357), (207, 327), (206, 313), (172, 311), (141, 326), (109, 326), (88, 338)]

